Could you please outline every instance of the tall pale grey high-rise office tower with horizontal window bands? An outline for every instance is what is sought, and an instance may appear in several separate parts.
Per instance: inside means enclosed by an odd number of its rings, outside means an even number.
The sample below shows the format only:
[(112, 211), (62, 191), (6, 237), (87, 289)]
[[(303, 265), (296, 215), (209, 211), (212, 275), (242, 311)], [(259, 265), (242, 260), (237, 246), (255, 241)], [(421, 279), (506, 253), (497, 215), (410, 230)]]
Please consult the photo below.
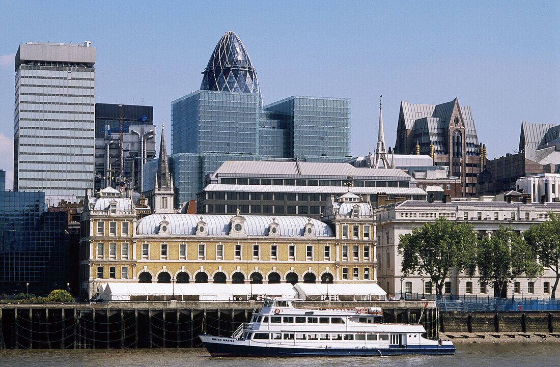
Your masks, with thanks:
[(50, 205), (83, 197), (94, 182), (95, 48), (20, 44), (16, 54), (14, 189)]

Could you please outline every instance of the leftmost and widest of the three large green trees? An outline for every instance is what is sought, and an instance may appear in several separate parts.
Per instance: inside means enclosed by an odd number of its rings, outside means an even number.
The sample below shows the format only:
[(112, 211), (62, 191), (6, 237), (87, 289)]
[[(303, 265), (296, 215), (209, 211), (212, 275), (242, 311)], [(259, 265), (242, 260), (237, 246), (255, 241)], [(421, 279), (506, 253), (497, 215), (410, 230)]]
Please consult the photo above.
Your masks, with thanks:
[(399, 254), (405, 276), (430, 276), (437, 294), (442, 294), (452, 267), (474, 272), (476, 235), (470, 223), (450, 222), (444, 217), (399, 235)]

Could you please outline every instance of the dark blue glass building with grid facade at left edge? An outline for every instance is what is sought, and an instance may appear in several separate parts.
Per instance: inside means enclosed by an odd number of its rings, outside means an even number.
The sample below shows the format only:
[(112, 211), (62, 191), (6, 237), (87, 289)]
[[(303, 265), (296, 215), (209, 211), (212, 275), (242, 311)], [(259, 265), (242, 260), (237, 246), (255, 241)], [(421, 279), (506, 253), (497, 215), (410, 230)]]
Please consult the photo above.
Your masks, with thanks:
[(0, 293), (66, 289), (66, 213), (47, 211), (43, 192), (5, 188), (6, 172), (0, 170)]

